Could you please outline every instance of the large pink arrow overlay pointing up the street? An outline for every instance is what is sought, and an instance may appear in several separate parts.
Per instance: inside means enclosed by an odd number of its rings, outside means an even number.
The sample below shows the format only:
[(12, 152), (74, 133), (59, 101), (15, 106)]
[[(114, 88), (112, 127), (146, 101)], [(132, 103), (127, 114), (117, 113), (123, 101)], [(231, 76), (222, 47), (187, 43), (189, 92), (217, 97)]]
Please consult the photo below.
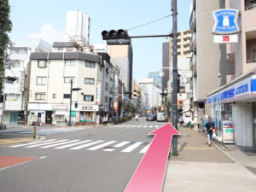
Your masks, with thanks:
[(155, 137), (124, 192), (160, 192), (162, 189), (172, 136), (180, 133), (168, 123), (148, 135)]

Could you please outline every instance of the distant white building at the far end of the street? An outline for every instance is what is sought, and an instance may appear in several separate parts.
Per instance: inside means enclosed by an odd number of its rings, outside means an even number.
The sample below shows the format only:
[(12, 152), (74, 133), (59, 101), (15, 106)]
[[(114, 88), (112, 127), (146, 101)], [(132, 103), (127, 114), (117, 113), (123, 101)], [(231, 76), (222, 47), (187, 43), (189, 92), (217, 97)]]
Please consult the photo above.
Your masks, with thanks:
[(143, 95), (147, 95), (146, 110), (150, 108), (158, 108), (160, 93), (162, 92), (162, 85), (156, 82), (153, 78), (141, 79), (138, 83), (142, 89)]

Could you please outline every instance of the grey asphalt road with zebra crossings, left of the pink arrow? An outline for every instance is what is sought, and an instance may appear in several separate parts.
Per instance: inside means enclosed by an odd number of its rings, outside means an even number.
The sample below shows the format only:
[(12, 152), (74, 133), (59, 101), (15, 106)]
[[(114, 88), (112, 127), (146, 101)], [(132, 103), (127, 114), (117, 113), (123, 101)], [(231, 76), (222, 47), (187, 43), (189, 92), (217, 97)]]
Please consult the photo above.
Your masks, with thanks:
[(148, 133), (160, 125), (140, 118), (115, 127), (60, 128), (44, 143), (0, 147), (1, 156), (36, 158), (0, 169), (0, 191), (122, 192), (153, 139)]

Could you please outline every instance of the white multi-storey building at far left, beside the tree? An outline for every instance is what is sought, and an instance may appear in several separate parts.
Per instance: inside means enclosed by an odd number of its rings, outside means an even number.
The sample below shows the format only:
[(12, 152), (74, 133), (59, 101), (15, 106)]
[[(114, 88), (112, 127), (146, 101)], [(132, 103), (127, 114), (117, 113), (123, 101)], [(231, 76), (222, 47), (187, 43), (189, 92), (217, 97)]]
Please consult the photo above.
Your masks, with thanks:
[(52, 47), (43, 40), (24, 39), (12, 43), (9, 48), (9, 59), (5, 77), (15, 77), (14, 83), (4, 84), (4, 117), (5, 124), (26, 124), (27, 101), (30, 80), (30, 54), (33, 51), (49, 52)]

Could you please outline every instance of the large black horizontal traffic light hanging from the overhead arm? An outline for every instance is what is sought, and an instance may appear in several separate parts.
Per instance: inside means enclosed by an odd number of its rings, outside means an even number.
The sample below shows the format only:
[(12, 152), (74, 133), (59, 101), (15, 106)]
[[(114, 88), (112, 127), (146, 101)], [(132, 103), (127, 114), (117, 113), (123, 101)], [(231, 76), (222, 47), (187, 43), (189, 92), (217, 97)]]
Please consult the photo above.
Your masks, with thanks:
[(103, 31), (102, 39), (107, 40), (107, 44), (131, 44), (131, 38), (124, 29)]

